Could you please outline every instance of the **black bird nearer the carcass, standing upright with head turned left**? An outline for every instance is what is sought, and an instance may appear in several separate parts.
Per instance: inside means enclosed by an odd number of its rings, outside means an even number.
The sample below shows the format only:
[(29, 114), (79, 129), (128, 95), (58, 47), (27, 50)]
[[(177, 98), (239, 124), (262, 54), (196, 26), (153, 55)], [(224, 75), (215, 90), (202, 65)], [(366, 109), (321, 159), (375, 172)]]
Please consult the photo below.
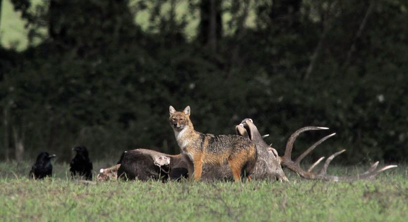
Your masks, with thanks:
[(80, 176), (85, 176), (87, 180), (92, 180), (92, 162), (89, 158), (87, 148), (84, 146), (78, 146), (72, 148), (72, 150), (77, 151), (77, 154), (69, 164), (71, 177), (74, 178), (78, 173)]

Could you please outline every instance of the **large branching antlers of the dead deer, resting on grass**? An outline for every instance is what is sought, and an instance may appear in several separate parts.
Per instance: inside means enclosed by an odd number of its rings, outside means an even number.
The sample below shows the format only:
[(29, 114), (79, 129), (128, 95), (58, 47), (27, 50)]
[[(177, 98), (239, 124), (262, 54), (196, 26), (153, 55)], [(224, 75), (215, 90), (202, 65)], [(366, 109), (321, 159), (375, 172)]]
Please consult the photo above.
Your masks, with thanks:
[(329, 158), (326, 159), (326, 162), (324, 163), (323, 167), (321, 168), (319, 173), (313, 173), (312, 170), (319, 164), (324, 157), (321, 157), (318, 159), (312, 166), (306, 171), (303, 170), (300, 167), (300, 161), (302, 161), (303, 158), (305, 158), (306, 155), (308, 155), (313, 149), (315, 149), (319, 144), (321, 144), (323, 141), (327, 140), (328, 138), (332, 137), (335, 135), (335, 133), (330, 134), (328, 136), (325, 136), (321, 138), (319, 141), (317, 141), (315, 144), (313, 144), (310, 148), (308, 148), (305, 152), (300, 154), (298, 158), (296, 158), (295, 161), (292, 160), (291, 155), (292, 155), (292, 148), (293, 144), (295, 143), (296, 138), (303, 132), (309, 131), (309, 130), (326, 130), (329, 128), (326, 127), (316, 127), (316, 126), (307, 126), (303, 127), (299, 130), (297, 130), (295, 133), (293, 133), (290, 137), (289, 140), (286, 144), (286, 149), (285, 149), (285, 154), (280, 157), (280, 162), (281, 165), (289, 168), (290, 170), (298, 173), (301, 177), (306, 178), (306, 179), (311, 179), (311, 180), (324, 180), (324, 181), (356, 181), (356, 180), (362, 180), (362, 179), (369, 179), (372, 177), (375, 177), (375, 175), (388, 170), (390, 168), (397, 167), (397, 165), (389, 165), (382, 167), (380, 169), (377, 169), (378, 166), (378, 161), (375, 162), (371, 167), (364, 173), (358, 174), (355, 176), (346, 176), (346, 177), (338, 177), (338, 176), (331, 176), (327, 175), (327, 167), (329, 166), (331, 160), (333, 160), (334, 157), (337, 155), (341, 154), (342, 152), (346, 151), (345, 149), (338, 151), (336, 153), (333, 153)]

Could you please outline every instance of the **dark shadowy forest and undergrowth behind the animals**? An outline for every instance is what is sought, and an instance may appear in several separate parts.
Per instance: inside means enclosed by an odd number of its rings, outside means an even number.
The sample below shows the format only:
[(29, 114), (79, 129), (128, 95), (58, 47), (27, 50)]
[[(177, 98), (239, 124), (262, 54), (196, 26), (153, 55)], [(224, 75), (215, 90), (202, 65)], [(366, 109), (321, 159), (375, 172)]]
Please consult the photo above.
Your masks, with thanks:
[[(193, 37), (188, 16), (176, 19), (181, 1), (198, 16)], [(346, 148), (344, 164), (407, 160), (406, 0), (12, 3), (41, 43), (0, 48), (2, 160), (48, 150), (67, 161), (78, 144), (93, 159), (178, 153), (169, 105), (189, 105), (205, 133), (233, 134), (250, 117), (279, 153), (315, 125), (330, 130), (301, 136), (295, 152), (334, 131), (313, 158)], [(148, 29), (135, 23), (142, 10)]]

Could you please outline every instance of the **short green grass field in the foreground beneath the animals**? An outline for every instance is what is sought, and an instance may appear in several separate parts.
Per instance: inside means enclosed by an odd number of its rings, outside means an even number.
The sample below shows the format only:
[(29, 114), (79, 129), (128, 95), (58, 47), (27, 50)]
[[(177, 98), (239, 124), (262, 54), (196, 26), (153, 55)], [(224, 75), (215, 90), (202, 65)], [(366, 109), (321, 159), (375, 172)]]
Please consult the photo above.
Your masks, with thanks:
[[(95, 169), (107, 163), (96, 163)], [(328, 183), (100, 182), (27, 178), (28, 163), (0, 163), (0, 221), (406, 221), (408, 167), (370, 181)], [(334, 170), (333, 170), (334, 169)], [(359, 169), (362, 170), (362, 169)], [(332, 167), (334, 174), (356, 168)]]

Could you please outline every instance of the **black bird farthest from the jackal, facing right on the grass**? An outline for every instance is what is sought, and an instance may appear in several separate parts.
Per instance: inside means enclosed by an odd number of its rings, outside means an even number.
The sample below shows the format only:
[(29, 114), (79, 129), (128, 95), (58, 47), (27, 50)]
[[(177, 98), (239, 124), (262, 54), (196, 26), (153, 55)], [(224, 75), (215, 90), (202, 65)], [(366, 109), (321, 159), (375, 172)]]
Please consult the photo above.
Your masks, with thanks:
[(47, 152), (41, 152), (37, 157), (36, 163), (33, 165), (33, 167), (31, 167), (29, 177), (34, 179), (51, 177), (52, 165), (50, 160), (55, 156), (55, 154), (50, 155)]

